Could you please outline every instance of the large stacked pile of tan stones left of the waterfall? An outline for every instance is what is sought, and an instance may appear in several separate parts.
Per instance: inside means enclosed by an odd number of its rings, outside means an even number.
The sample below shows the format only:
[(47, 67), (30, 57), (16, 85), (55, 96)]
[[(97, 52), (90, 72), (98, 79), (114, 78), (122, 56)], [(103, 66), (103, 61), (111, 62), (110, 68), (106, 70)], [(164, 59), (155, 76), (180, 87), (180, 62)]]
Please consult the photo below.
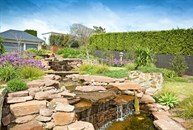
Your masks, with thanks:
[[(68, 98), (76, 95), (59, 88), (59, 76), (48, 75), (28, 83), (26, 91), (8, 93), (2, 122), (9, 130), (94, 130), (88, 122), (76, 121)], [(4, 108), (6, 111), (7, 109)]]

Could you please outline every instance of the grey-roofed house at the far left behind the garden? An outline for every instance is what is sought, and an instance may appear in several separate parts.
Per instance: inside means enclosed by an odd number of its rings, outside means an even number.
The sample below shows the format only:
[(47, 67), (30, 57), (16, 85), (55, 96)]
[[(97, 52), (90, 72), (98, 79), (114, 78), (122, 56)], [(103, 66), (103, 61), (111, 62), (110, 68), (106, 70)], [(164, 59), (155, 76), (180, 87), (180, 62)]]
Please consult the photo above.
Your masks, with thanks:
[(44, 42), (27, 32), (12, 29), (1, 32), (0, 37), (3, 39), (6, 51), (24, 51), (29, 48), (41, 49)]

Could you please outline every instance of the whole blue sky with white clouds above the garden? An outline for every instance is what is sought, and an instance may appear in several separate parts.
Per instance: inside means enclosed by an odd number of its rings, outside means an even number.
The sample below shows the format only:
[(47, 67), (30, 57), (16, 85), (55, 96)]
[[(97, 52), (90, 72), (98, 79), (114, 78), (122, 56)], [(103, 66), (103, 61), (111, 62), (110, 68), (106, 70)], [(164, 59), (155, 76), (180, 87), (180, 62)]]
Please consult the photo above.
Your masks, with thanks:
[(0, 31), (68, 33), (73, 23), (107, 32), (193, 28), (193, 0), (0, 0)]

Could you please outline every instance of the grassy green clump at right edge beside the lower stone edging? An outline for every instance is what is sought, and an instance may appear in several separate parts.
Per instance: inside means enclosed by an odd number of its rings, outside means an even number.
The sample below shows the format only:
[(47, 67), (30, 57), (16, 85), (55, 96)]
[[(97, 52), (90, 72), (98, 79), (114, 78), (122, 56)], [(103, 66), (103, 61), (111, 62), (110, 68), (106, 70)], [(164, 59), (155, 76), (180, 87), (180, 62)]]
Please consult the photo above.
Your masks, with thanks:
[(181, 109), (180, 116), (188, 119), (193, 118), (193, 95), (181, 101), (178, 106)]

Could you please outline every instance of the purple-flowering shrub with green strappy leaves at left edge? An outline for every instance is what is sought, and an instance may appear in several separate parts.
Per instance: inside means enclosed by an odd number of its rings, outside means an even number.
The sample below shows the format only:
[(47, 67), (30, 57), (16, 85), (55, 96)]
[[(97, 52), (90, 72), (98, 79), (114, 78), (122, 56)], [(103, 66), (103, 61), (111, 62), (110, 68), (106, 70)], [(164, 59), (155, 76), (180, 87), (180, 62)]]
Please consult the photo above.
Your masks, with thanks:
[(43, 75), (41, 61), (31, 58), (29, 53), (9, 53), (0, 55), (0, 81), (9, 81), (16, 77), (25, 79)]

